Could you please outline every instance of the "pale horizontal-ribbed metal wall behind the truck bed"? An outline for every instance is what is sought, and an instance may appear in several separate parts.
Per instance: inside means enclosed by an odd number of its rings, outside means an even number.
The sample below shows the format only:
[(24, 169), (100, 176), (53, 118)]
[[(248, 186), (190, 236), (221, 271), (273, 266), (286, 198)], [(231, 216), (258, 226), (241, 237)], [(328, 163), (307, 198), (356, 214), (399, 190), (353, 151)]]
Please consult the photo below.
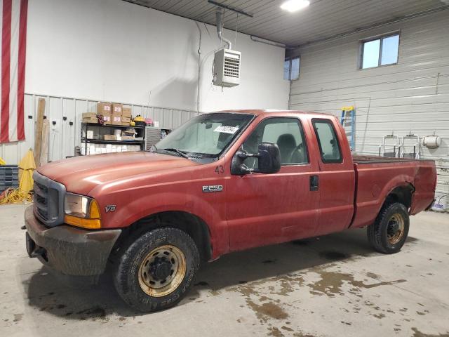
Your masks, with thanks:
[[(397, 65), (358, 70), (361, 39), (400, 30)], [(441, 136), (441, 147), (422, 147), (438, 167), (436, 197), (449, 211), (449, 11), (396, 22), (334, 41), (300, 48), (300, 79), (290, 109), (338, 116), (356, 106), (356, 152), (377, 154), (382, 136)]]

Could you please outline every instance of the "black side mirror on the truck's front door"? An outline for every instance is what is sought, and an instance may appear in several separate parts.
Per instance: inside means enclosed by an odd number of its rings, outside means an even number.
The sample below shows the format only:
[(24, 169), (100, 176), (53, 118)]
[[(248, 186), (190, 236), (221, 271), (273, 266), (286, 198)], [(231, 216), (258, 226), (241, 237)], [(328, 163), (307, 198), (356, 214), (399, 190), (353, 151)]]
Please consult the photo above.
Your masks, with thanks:
[[(248, 169), (248, 166), (243, 164), (246, 158), (255, 157), (258, 159), (257, 169)], [(274, 143), (260, 143), (257, 154), (248, 153), (244, 150), (239, 150), (232, 158), (231, 174), (243, 176), (248, 173), (276, 173), (281, 169), (281, 154), (278, 145)]]

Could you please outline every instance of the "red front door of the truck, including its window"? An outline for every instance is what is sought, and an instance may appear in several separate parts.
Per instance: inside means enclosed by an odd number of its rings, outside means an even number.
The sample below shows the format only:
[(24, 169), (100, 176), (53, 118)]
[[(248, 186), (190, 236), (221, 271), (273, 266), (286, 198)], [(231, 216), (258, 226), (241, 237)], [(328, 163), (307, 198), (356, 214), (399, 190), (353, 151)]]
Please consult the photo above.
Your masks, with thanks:
[[(311, 176), (317, 176), (318, 164), (309, 155), (311, 148), (303, 125), (304, 121), (297, 117), (266, 117), (244, 140), (243, 150), (252, 153), (257, 153), (259, 143), (276, 143), (281, 152), (281, 170), (273, 174), (231, 175), (227, 180), (231, 250), (314, 234), (319, 192), (311, 188)], [(305, 134), (310, 136), (307, 121), (305, 125)], [(248, 158), (244, 164), (255, 169), (257, 159)]]

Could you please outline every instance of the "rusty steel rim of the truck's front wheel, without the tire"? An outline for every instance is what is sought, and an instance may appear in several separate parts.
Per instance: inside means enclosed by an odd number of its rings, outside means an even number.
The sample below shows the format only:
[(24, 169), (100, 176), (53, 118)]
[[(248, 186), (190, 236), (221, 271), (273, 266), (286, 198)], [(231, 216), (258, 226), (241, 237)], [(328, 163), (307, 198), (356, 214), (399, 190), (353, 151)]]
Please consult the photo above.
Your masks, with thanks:
[(171, 244), (150, 251), (139, 267), (139, 284), (149, 296), (173, 293), (185, 277), (187, 263), (184, 253)]

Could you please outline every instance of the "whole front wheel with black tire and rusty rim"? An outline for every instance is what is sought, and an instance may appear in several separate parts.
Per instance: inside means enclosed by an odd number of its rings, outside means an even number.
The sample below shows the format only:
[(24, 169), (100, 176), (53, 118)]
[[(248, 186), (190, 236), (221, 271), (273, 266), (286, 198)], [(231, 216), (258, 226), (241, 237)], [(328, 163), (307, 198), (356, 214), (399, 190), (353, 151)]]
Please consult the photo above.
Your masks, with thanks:
[(131, 307), (142, 312), (163, 310), (185, 296), (199, 264), (199, 251), (187, 233), (158, 228), (142, 234), (123, 252), (114, 285)]

